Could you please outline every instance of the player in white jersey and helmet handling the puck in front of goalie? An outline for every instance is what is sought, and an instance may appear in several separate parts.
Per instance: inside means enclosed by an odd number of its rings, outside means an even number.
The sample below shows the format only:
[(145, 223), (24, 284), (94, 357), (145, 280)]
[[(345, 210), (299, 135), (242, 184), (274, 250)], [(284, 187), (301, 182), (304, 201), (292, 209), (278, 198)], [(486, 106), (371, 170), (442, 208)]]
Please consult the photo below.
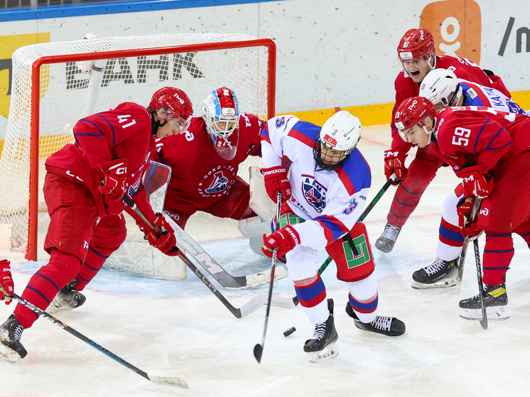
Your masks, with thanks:
[[(333, 302), (326, 300), (318, 274), (318, 249), (327, 249), (337, 263), (337, 278), (350, 291), (346, 311), (357, 327), (389, 336), (405, 332), (400, 320), (377, 315), (372, 251), (366, 227), (357, 222), (372, 182), (369, 165), (355, 148), (360, 129), (359, 119), (342, 111), (323, 127), (296, 116), (277, 116), (261, 133), (267, 193), (276, 201), (280, 190), (286, 199), (281, 229), (264, 236), (263, 250), (271, 256), (277, 247), (278, 256), (286, 256), (298, 300), (315, 324), (304, 345), (313, 362), (338, 354)], [(343, 240), (348, 232), (350, 241)]]

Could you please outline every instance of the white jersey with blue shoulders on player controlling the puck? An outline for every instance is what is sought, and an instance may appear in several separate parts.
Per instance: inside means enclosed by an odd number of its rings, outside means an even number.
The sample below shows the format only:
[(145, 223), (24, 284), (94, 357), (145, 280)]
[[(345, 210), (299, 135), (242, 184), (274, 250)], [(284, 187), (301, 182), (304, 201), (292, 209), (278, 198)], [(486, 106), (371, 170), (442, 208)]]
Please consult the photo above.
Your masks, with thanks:
[(357, 148), (337, 170), (323, 170), (313, 158), (322, 127), (296, 116), (277, 116), (261, 133), (264, 168), (289, 166), (292, 197), (288, 206), (306, 222), (291, 225), (301, 245), (323, 249), (349, 232), (366, 204), (372, 175)]

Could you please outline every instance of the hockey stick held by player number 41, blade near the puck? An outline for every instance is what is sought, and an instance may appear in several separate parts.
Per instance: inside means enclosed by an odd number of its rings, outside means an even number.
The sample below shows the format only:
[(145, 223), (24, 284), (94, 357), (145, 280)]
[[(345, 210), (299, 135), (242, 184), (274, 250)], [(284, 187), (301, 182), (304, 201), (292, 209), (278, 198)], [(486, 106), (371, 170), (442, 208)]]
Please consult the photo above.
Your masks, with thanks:
[[(151, 227), (151, 229), (153, 229), (157, 233), (160, 233), (160, 229), (158, 229), (158, 227), (151, 224), (151, 222), (149, 222), (146, 219), (146, 217), (144, 217), (144, 214), (142, 214), (141, 211), (138, 209), (138, 207), (136, 207), (136, 204), (134, 203), (134, 201), (132, 201), (126, 195), (124, 195), (121, 198), (122, 200), (124, 200), (124, 202), (126, 202), (126, 205), (129, 205), (129, 207), (131, 207), (131, 210), (133, 210), (149, 227)], [(221, 303), (225, 305), (225, 307), (228, 310), (230, 310), (230, 312), (236, 318), (245, 317), (249, 315), (250, 313), (258, 310), (261, 305), (264, 305), (264, 295), (259, 293), (255, 295), (254, 298), (249, 300), (249, 302), (245, 303), (241, 308), (234, 308), (234, 306), (228, 302), (227, 298), (225, 298), (225, 296), (222, 295), (222, 293), (220, 293), (219, 290), (217, 290), (217, 288), (215, 288), (215, 286), (210, 282), (210, 280), (208, 280), (208, 278), (206, 278), (199, 271), (197, 266), (195, 266), (193, 262), (190, 261), (190, 259), (188, 259), (188, 257), (185, 256), (185, 254), (183, 254), (183, 252), (178, 249), (177, 246), (174, 246), (170, 252), (175, 252), (175, 251), (178, 251), (178, 256), (180, 257), (180, 259), (182, 259), (185, 265), (188, 266), (188, 268), (190, 268), (193, 271), (193, 274), (195, 274), (195, 276), (197, 276), (200, 279), (200, 281), (202, 281), (202, 283), (204, 283), (204, 285), (206, 285), (207, 288), (210, 291), (212, 291), (212, 293), (217, 297), (217, 299), (219, 299)], [(282, 308), (291, 308), (291, 307), (294, 308), (296, 305), (298, 305), (298, 299), (295, 301), (295, 298), (287, 298), (287, 299), (276, 298), (276, 305)]]

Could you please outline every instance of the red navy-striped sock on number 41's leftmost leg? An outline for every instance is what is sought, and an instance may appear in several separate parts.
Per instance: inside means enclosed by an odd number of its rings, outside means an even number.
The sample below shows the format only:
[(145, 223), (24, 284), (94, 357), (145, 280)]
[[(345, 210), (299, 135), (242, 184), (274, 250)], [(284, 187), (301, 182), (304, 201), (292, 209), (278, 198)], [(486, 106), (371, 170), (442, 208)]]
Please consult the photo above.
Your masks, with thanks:
[[(48, 264), (38, 269), (22, 293), (22, 298), (42, 310), (46, 310), (59, 290), (75, 278), (81, 266), (77, 256), (63, 254), (57, 249), (52, 249), (50, 254)], [(33, 310), (21, 304), (16, 306), (14, 315), (24, 328), (31, 327), (38, 319)]]

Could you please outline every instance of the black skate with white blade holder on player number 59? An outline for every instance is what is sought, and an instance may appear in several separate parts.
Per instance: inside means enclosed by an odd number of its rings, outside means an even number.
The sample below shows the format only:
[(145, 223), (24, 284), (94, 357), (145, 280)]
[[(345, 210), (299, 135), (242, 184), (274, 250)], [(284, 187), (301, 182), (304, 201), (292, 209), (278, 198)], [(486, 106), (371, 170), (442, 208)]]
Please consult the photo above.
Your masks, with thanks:
[[(505, 284), (484, 285), (482, 298), (486, 306), (488, 320), (507, 320), (509, 318), (508, 295)], [(478, 294), (472, 298), (460, 300), (458, 305), (462, 308), (460, 317), (466, 320), (480, 320), (482, 318), (482, 306)]]

